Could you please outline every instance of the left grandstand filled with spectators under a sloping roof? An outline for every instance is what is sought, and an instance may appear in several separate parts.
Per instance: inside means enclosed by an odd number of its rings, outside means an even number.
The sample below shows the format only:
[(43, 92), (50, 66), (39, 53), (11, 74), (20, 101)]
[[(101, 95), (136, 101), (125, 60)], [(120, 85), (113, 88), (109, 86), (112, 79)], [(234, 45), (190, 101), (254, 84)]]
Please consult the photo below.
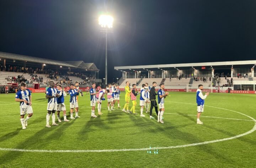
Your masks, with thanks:
[(99, 69), (94, 63), (83, 61), (59, 61), (0, 52), (0, 92), (8, 85), (11, 91), (20, 82), (26, 82), (30, 88), (46, 87), (50, 80), (64, 87), (79, 81), (81, 86), (90, 86), (91, 82), (101, 83)]

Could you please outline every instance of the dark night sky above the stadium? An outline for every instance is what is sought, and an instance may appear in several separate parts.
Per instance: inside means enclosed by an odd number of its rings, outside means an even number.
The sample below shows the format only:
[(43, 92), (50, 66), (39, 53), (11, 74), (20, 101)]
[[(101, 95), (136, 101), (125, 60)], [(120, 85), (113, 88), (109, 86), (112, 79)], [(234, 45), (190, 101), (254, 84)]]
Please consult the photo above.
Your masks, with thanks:
[(0, 51), (114, 66), (255, 60), (255, 0), (0, 0)]

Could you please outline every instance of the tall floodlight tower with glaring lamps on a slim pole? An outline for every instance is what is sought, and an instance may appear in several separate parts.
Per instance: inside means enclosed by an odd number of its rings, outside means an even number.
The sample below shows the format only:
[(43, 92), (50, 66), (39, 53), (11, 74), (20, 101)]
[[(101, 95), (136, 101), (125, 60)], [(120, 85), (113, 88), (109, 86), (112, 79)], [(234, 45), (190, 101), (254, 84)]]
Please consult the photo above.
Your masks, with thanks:
[(107, 85), (107, 34), (108, 33), (112, 33), (113, 30), (113, 17), (110, 15), (101, 15), (98, 18), (98, 23), (101, 26), (100, 31), (106, 34), (106, 54), (105, 54), (105, 59), (106, 59), (106, 66), (105, 66), (105, 79), (106, 79), (106, 83), (105, 85)]

